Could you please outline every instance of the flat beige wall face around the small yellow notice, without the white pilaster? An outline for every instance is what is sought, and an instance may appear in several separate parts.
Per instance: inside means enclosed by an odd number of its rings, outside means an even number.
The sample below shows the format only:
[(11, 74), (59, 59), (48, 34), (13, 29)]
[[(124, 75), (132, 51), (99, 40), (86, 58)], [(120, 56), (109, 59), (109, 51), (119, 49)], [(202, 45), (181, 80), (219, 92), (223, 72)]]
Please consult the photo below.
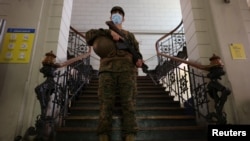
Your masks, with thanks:
[[(231, 103), (227, 103), (228, 109), (226, 111), (235, 113), (236, 123), (249, 124), (250, 11), (245, 0), (231, 1), (229, 4), (210, 1), (210, 5), (218, 39), (218, 48), (224, 60), (228, 77), (225, 83), (232, 88), (232, 95), (229, 99)], [(243, 45), (246, 54), (245, 59), (232, 58), (229, 46), (234, 43)]]

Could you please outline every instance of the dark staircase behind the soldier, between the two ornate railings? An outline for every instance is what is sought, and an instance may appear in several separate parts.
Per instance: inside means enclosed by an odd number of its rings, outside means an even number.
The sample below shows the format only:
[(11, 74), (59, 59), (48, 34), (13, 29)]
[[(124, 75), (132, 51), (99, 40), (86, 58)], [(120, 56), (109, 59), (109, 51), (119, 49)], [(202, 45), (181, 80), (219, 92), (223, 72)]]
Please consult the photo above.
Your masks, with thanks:
[[(136, 141), (206, 141), (206, 128), (198, 126), (195, 115), (180, 107), (161, 85), (148, 76), (138, 76)], [(70, 109), (65, 126), (56, 129), (56, 141), (98, 141), (98, 79), (92, 79)], [(119, 104), (113, 116), (112, 141), (122, 141)]]

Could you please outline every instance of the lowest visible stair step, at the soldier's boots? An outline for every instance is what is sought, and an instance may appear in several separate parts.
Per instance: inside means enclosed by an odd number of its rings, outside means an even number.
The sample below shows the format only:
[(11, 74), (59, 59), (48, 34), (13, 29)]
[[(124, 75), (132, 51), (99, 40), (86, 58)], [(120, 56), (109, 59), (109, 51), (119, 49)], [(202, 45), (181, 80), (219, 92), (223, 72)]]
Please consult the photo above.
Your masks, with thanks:
[[(56, 141), (97, 141), (96, 128), (61, 127)], [(135, 141), (206, 141), (206, 128), (200, 126), (139, 128)], [(185, 139), (183, 139), (185, 138)], [(122, 141), (121, 129), (113, 128), (113, 141)]]

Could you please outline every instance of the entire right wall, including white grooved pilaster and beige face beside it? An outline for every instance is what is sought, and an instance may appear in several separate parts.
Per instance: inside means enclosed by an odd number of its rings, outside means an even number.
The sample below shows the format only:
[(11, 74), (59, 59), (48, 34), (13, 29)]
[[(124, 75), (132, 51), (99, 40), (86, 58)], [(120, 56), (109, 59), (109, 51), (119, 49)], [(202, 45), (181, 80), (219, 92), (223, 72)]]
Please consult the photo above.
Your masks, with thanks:
[[(225, 104), (228, 122), (249, 124), (250, 11), (246, 1), (181, 0), (181, 9), (189, 59), (207, 65), (213, 53), (221, 57), (226, 71), (221, 83), (232, 90)], [(245, 59), (232, 58), (232, 43), (244, 46)]]

